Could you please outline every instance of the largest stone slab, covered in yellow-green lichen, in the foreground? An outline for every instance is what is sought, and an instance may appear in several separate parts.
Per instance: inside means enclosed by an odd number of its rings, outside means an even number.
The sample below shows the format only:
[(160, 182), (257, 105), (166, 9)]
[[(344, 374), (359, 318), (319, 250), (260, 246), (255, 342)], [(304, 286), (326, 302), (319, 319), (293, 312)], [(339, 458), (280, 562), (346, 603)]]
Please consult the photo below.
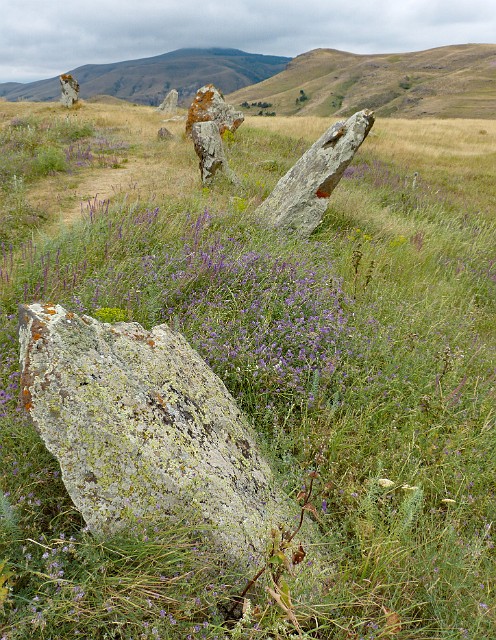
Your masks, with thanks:
[(233, 398), (167, 325), (35, 303), (20, 307), (19, 339), (23, 405), (95, 534), (191, 515), (226, 559), (252, 564), (271, 525), (297, 522)]

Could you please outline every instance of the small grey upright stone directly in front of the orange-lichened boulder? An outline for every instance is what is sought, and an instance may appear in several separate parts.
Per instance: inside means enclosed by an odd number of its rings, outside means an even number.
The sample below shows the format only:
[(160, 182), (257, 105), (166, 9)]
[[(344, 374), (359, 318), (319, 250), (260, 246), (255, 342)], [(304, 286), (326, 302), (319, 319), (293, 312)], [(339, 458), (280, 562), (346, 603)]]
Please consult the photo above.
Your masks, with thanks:
[(237, 182), (237, 177), (227, 163), (217, 123), (195, 122), (191, 134), (196, 155), (200, 158), (202, 182), (208, 184), (219, 169), (231, 181)]

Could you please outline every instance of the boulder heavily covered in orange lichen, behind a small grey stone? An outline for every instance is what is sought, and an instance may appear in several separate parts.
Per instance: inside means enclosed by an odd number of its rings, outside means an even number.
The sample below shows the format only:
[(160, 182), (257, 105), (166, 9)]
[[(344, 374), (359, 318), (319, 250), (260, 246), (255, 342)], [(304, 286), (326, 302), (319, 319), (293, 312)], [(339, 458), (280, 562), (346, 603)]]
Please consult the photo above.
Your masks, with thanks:
[(241, 111), (236, 111), (228, 104), (213, 84), (207, 84), (198, 89), (195, 99), (191, 103), (186, 120), (186, 134), (192, 134), (195, 122), (213, 120), (219, 125), (220, 135), (229, 130), (234, 133), (243, 123), (245, 117)]

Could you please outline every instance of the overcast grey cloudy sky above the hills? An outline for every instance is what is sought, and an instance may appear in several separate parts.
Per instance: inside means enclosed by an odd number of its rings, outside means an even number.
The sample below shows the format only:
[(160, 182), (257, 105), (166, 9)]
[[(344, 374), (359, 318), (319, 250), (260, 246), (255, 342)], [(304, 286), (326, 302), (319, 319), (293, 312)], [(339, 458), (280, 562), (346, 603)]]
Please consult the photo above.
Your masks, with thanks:
[(3, 0), (0, 82), (182, 47), (294, 57), (495, 41), (494, 0)]

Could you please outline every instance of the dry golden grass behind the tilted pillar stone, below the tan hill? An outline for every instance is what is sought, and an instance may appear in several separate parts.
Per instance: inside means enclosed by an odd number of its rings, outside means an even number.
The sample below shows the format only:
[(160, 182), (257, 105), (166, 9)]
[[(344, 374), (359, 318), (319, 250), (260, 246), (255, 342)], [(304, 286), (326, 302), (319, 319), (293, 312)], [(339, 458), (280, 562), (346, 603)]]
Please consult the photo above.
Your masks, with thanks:
[[(251, 117), (257, 129), (316, 140), (338, 118)], [(450, 197), (467, 200), (494, 220), (496, 120), (406, 120), (378, 118), (357, 159), (394, 164), (405, 174), (417, 171), (433, 189), (449, 187)]]

